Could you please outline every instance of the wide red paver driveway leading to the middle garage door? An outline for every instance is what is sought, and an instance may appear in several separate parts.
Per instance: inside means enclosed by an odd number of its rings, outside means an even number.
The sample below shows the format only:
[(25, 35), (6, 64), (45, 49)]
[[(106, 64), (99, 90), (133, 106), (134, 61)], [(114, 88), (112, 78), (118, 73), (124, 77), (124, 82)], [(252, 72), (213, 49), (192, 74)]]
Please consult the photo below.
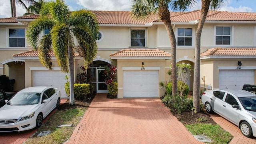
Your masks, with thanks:
[(159, 98), (97, 94), (68, 144), (201, 144)]

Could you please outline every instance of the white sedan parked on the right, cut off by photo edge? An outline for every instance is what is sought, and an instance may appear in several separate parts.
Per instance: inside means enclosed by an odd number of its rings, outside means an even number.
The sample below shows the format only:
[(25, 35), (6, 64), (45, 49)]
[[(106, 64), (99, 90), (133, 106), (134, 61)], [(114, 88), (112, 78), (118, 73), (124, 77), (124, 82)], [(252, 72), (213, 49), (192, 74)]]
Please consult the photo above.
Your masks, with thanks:
[(206, 112), (216, 112), (240, 128), (246, 137), (256, 137), (256, 95), (240, 89), (207, 90), (202, 94)]

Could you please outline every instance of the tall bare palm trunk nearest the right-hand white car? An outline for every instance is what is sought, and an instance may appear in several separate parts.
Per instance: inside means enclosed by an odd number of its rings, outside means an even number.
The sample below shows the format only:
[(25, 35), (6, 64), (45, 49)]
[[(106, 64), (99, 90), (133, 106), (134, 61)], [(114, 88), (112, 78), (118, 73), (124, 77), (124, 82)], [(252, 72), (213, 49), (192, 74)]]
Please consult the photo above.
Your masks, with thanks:
[(196, 30), (196, 49), (195, 49), (195, 68), (194, 68), (194, 88), (193, 88), (193, 106), (196, 112), (200, 112), (200, 50), (201, 34), (204, 22), (209, 10), (210, 0), (202, 0), (202, 9), (200, 21)]

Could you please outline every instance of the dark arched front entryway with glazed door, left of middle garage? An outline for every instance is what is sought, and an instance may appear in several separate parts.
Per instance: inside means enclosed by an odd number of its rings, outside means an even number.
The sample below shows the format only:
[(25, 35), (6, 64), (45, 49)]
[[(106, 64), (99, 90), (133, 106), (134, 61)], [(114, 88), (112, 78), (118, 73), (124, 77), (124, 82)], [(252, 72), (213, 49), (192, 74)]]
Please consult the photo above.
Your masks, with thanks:
[(108, 86), (105, 84), (104, 70), (108, 61), (96, 60), (87, 70), (87, 73), (92, 76), (93, 91), (96, 93), (108, 93)]

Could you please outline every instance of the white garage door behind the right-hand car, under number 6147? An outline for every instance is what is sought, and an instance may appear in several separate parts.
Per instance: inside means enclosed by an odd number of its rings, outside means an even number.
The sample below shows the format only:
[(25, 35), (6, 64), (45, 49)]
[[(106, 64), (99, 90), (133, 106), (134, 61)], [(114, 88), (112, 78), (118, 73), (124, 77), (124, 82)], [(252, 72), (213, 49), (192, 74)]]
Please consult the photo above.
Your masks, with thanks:
[(254, 84), (254, 70), (220, 70), (219, 88), (242, 89), (244, 84)]

